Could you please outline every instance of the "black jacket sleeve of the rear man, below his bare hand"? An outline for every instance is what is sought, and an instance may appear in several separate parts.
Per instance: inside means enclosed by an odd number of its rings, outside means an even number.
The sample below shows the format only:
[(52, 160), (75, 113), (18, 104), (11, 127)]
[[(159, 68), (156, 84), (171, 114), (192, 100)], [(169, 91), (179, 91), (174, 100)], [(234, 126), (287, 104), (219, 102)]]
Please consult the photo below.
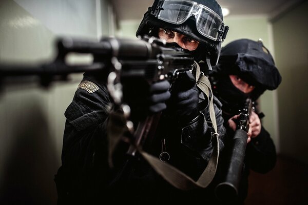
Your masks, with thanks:
[(246, 163), (255, 172), (266, 173), (276, 164), (276, 148), (269, 133), (262, 126), (260, 134), (247, 144)]

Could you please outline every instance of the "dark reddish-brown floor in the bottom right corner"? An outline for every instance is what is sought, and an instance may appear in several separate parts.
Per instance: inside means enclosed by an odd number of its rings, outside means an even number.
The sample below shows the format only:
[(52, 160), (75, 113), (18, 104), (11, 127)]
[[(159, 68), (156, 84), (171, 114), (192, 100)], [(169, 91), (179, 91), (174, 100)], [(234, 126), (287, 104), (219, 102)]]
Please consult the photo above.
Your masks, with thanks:
[(251, 172), (245, 205), (308, 205), (308, 165), (278, 156), (266, 174)]

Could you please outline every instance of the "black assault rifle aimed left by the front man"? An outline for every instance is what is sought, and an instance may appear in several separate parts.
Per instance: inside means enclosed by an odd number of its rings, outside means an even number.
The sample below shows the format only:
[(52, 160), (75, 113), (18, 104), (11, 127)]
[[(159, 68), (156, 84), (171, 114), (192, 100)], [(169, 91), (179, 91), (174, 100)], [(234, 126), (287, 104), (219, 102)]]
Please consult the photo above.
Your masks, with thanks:
[[(67, 80), (70, 73), (104, 71), (110, 95), (120, 108), (123, 104), (121, 79), (141, 77), (149, 84), (167, 79), (172, 86), (180, 73), (191, 71), (195, 67), (194, 58), (188, 52), (181, 48), (168, 47), (165, 42), (155, 37), (104, 37), (100, 42), (63, 37), (57, 39), (56, 46), (57, 56), (51, 63), (38, 66), (0, 64), (0, 76), (6, 78), (35, 75), (40, 77), (43, 86), (49, 86), (53, 80)], [(70, 65), (67, 56), (72, 53), (91, 54), (93, 61), (87, 65)], [(129, 116), (129, 111), (124, 110), (125, 115)], [(153, 129), (153, 122), (158, 121), (158, 118), (159, 116), (148, 116), (139, 122), (133, 134), (135, 145), (142, 145), (149, 133), (152, 133), (149, 131)], [(130, 147), (128, 153), (134, 155), (135, 152), (136, 147)]]

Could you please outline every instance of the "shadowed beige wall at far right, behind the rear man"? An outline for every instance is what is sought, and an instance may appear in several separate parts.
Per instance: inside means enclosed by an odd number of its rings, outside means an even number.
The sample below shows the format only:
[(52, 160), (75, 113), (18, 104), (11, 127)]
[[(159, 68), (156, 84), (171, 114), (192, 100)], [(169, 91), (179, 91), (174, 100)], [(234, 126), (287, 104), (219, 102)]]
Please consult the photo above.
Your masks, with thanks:
[(308, 1), (273, 22), (278, 88), (280, 152), (308, 163)]

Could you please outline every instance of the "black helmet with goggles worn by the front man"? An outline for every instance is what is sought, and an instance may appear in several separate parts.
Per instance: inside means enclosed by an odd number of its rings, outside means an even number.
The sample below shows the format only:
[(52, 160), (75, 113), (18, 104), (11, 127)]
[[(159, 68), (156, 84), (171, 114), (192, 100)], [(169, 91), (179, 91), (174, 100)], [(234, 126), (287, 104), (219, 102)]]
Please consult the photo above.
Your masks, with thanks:
[(221, 42), (228, 31), (223, 24), (221, 7), (215, 0), (155, 0), (144, 14), (136, 35), (156, 36), (158, 28), (198, 40), (195, 59), (206, 61), (208, 58), (211, 65), (217, 64)]

